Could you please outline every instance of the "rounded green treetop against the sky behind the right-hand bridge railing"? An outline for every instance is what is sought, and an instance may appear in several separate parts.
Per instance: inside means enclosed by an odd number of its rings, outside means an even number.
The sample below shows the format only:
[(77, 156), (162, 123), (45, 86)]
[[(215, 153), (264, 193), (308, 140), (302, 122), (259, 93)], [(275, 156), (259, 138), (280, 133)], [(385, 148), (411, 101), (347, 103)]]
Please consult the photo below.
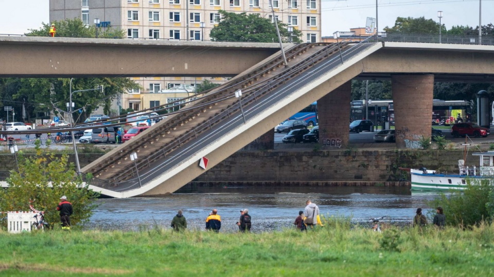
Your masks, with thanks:
[[(442, 26), (445, 31), (445, 27)], [(426, 19), (424, 16), (413, 17), (397, 17), (395, 26), (384, 27), (387, 33), (415, 33), (415, 34), (436, 34), (439, 33), (439, 24), (432, 19)]]

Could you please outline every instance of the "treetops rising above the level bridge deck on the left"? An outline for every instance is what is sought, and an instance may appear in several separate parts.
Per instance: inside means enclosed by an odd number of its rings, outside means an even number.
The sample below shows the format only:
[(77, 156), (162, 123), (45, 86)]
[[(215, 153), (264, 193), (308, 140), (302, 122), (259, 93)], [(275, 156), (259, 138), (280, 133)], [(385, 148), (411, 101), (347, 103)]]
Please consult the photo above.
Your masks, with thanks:
[[(80, 18), (74, 19), (64, 19), (62, 21), (54, 21), (52, 24), (55, 24), (55, 28), (57, 29), (57, 33), (55, 36), (61, 37), (96, 37), (96, 29), (97, 27), (94, 25), (86, 26), (81, 21)], [(42, 27), (40, 29), (30, 29), (29, 33), (26, 33), (27, 36), (50, 36), (50, 26), (51, 24), (42, 23)], [(100, 38), (123, 38), (125, 35), (124, 30), (107, 27), (102, 30), (98, 28), (98, 37)]]

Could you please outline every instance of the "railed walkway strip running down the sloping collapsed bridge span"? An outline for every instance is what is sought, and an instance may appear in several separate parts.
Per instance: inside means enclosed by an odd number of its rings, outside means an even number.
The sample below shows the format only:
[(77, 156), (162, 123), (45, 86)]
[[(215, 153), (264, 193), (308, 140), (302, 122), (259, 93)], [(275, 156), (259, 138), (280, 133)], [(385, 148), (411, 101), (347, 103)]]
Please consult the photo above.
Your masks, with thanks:
[[(240, 102), (242, 106), (244, 106), (244, 113), (238, 112), (240, 110), (239, 102), (232, 105), (231, 107), (225, 109), (223, 112), (211, 118), (209, 121), (206, 121), (201, 128), (208, 128), (215, 124), (218, 120), (222, 118), (227, 118), (226, 121), (223, 121), (221, 124), (216, 124), (214, 129), (210, 129), (209, 132), (203, 133), (198, 140), (193, 143), (188, 143), (185, 145), (181, 145), (180, 140), (177, 140), (171, 143), (167, 149), (175, 149), (172, 154), (168, 155), (168, 159), (161, 164), (154, 167), (152, 170), (140, 175), (140, 183), (146, 184), (156, 177), (169, 172), (170, 170), (177, 167), (182, 162), (189, 159), (190, 156), (197, 154), (199, 151), (204, 149), (205, 147), (214, 144), (220, 138), (225, 136), (227, 133), (230, 133), (237, 129), (239, 126), (244, 124), (245, 120), (249, 121), (253, 117), (255, 117), (259, 112), (262, 112), (272, 106), (277, 105), (280, 101), (283, 101), (287, 96), (294, 93), (295, 91), (306, 86), (308, 82), (316, 80), (321, 77), (323, 74), (333, 70), (334, 68), (341, 65), (341, 60), (348, 61), (350, 58), (360, 54), (365, 51), (367, 48), (375, 45), (377, 42), (376, 37), (370, 37), (365, 41), (351, 47), (346, 51), (342, 51), (342, 59), (338, 54), (332, 55), (330, 58), (317, 63), (313, 70), (304, 71), (303, 67), (306, 67), (306, 63), (296, 65), (291, 68), (287, 73), (281, 75), (277, 80), (273, 80), (257, 91), (251, 93), (250, 95), (241, 98)], [(298, 77), (289, 77), (291, 75), (298, 75)], [(284, 86), (278, 87), (275, 90), (272, 89), (273, 85), (278, 83), (284, 83)], [(267, 95), (267, 92), (270, 92)], [(260, 96), (264, 95), (262, 98)], [(164, 151), (165, 149), (161, 150)], [(139, 187), (139, 182), (137, 178), (127, 180), (120, 183), (115, 183), (114, 187), (108, 188), (114, 191), (126, 191)]]

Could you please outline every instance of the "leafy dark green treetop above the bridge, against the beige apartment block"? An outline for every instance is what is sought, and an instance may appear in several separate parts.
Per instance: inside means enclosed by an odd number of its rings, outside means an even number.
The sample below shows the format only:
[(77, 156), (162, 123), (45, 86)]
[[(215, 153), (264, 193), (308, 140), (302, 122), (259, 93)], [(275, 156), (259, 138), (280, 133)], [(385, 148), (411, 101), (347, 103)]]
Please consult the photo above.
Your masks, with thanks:
[[(220, 10), (221, 21), (215, 26), (209, 36), (218, 42), (278, 42), (276, 27), (268, 18), (262, 18), (258, 13), (246, 14)], [(281, 40), (290, 41), (287, 25), (278, 21)], [(292, 42), (301, 43), (302, 32), (293, 29)]]

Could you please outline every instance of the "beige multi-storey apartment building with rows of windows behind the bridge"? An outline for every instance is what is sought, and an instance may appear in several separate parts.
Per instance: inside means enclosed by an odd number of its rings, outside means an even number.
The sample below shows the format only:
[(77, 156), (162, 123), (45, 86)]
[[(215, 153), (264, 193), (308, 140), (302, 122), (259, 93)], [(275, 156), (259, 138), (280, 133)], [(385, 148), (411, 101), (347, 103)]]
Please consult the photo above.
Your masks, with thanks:
[[(302, 31), (304, 42), (321, 42), (321, 0), (272, 0), (275, 17)], [(50, 21), (81, 18), (87, 25), (126, 30), (129, 39), (209, 41), (220, 21), (219, 10), (258, 13), (273, 21), (269, 0), (50, 0)], [(97, 20), (97, 21), (96, 21)], [(96, 23), (99, 22), (99, 23)], [(223, 83), (226, 78), (136, 77), (144, 89), (123, 94), (122, 108), (143, 109), (141, 94), (168, 87), (196, 86), (205, 79)]]

